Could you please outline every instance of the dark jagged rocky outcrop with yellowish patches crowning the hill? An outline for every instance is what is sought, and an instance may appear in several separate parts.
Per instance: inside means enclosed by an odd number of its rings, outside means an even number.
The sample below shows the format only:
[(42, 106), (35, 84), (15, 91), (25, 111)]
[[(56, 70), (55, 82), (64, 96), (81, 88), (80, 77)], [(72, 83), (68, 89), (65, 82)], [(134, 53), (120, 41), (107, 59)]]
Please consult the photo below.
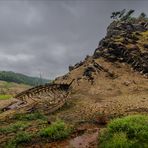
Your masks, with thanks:
[(148, 74), (147, 27), (148, 22), (111, 23), (107, 28), (106, 37), (99, 42), (93, 57), (125, 62), (133, 69)]

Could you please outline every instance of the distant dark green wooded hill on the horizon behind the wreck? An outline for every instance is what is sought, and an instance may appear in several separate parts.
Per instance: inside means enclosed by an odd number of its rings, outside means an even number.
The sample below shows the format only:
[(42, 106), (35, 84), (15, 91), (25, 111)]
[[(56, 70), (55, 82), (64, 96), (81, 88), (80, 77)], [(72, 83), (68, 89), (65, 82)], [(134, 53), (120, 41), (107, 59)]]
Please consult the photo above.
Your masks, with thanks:
[(15, 83), (22, 83), (27, 85), (40, 85), (45, 84), (47, 82), (51, 82), (51, 80), (47, 79), (40, 79), (38, 77), (30, 77), (24, 74), (15, 73), (12, 71), (0, 71), (0, 80), (6, 82), (15, 82)]

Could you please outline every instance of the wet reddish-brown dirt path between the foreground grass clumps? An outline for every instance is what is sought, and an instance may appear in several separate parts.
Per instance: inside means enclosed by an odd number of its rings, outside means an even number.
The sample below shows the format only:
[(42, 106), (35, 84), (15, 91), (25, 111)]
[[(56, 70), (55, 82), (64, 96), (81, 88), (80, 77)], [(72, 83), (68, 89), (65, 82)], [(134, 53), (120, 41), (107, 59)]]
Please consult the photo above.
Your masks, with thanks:
[(37, 143), (27, 148), (97, 148), (100, 127), (84, 123), (77, 127), (73, 135), (62, 141), (51, 143)]

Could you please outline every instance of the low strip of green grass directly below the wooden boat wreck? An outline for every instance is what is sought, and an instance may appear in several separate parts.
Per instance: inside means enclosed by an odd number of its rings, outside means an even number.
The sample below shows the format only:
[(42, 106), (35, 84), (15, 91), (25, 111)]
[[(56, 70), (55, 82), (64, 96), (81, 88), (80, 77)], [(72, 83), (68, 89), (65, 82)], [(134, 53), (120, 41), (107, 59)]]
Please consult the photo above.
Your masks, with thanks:
[(23, 120), (23, 121), (38, 120), (38, 119), (46, 120), (47, 119), (46, 116), (40, 112), (34, 112), (30, 114), (16, 114), (13, 118), (16, 120)]

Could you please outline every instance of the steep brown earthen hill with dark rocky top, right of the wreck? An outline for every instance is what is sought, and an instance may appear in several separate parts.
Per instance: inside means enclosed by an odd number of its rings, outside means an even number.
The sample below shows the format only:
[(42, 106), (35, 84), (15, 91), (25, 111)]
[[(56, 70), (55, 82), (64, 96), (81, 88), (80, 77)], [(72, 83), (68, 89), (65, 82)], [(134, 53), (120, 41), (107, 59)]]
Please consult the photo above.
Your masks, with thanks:
[(147, 113), (147, 41), (147, 20), (113, 22), (93, 56), (70, 66), (68, 74), (55, 80), (75, 80), (69, 102), (76, 103), (68, 114), (88, 119), (96, 114)]

